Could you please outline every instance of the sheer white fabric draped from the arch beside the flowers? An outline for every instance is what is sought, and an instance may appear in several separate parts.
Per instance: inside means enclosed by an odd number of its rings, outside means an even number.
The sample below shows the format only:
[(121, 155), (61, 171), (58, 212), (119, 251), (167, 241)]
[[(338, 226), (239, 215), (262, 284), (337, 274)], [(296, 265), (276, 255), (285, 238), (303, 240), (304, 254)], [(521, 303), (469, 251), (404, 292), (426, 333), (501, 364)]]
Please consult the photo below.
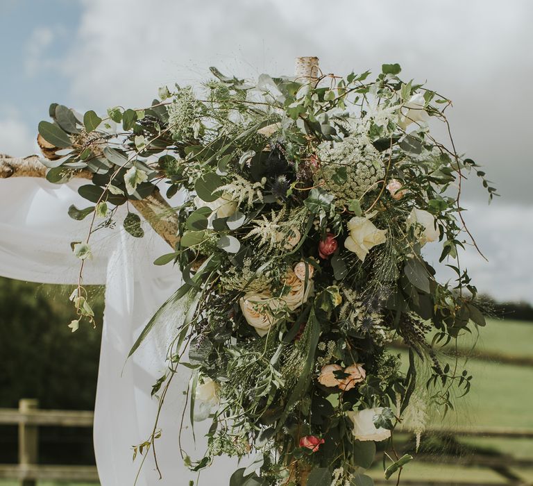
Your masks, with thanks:
[[(79, 260), (72, 254), (70, 242), (83, 240), (89, 224), (89, 218), (74, 221), (67, 215), (71, 204), (78, 208), (89, 206), (78, 196), (78, 185), (78, 181), (52, 185), (37, 178), (0, 181), (1, 276), (39, 283), (77, 283)], [(151, 387), (164, 372), (164, 357), (174, 331), (172, 319), (160, 323), (133, 357), (126, 360), (140, 330), (180, 285), (178, 269), (152, 265), (169, 248), (147, 224), (144, 231), (143, 238), (133, 238), (117, 224), (117, 228), (94, 233), (94, 257), (87, 261), (83, 272), (86, 285), (106, 285), (94, 416), (94, 449), (103, 486), (135, 482), (140, 458), (132, 461), (131, 447), (151, 434), (158, 405), (157, 399), (150, 396)], [(163, 478), (159, 480), (150, 453), (137, 485), (188, 485), (189, 480), (196, 480), (196, 474), (183, 465), (178, 446), (183, 392), (188, 380), (189, 371), (183, 368), (174, 378), (160, 419), (162, 437), (156, 440), (155, 447)], [(200, 437), (208, 424), (195, 425), (196, 453), (188, 419), (184, 424), (187, 430), (182, 444), (194, 460), (205, 451)], [(202, 472), (200, 484), (227, 484), (233, 469), (232, 461), (219, 460)]]

